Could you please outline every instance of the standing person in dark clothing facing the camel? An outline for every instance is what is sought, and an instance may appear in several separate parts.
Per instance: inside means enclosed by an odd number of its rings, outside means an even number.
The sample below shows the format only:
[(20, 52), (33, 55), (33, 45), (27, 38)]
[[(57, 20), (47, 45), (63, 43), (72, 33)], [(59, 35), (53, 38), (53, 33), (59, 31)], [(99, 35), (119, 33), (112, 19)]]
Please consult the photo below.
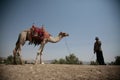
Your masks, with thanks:
[(100, 65), (105, 65), (104, 58), (103, 58), (103, 53), (101, 49), (101, 41), (99, 41), (99, 38), (95, 38), (96, 42), (94, 43), (94, 54), (96, 53), (97, 57), (97, 62)]

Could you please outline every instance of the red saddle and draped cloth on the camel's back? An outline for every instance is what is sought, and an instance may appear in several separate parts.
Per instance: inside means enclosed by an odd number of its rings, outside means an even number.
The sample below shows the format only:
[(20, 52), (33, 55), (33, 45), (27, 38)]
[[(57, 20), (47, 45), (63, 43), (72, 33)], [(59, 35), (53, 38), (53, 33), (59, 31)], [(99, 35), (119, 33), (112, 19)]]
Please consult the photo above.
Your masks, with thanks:
[(34, 44), (40, 44), (44, 40), (44, 38), (50, 37), (50, 34), (45, 30), (43, 26), (38, 28), (33, 25), (32, 28), (30, 28), (30, 32), (31, 32), (30, 42)]

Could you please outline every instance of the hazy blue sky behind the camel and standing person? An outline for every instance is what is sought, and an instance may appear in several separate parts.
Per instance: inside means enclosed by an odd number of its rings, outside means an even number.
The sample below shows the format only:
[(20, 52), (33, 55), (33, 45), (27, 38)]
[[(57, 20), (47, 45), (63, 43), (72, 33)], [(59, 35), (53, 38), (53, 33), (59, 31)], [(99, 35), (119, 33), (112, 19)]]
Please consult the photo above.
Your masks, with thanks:
[[(70, 35), (59, 43), (46, 44), (44, 60), (64, 58), (70, 53), (82, 61), (95, 60), (96, 36), (102, 41), (105, 62), (120, 56), (119, 0), (0, 0), (0, 56), (12, 55), (19, 33), (33, 23), (44, 24), (53, 36), (60, 31)], [(38, 48), (27, 42), (22, 57), (35, 59)]]

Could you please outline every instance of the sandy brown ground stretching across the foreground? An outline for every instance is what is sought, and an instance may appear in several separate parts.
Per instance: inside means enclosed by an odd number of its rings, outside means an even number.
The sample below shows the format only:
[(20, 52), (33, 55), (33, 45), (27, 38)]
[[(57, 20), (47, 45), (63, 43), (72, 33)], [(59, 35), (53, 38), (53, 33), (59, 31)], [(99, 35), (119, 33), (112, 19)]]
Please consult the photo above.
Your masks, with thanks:
[(0, 80), (120, 80), (120, 66), (2, 64)]

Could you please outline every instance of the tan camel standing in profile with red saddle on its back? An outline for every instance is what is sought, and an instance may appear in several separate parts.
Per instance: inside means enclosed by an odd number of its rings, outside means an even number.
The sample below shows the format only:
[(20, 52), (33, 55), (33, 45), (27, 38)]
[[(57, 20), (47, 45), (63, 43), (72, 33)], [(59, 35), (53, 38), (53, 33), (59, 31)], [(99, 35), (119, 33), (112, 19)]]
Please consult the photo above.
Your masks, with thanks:
[[(34, 27), (34, 25), (33, 25)], [(56, 37), (53, 37), (51, 36), (45, 29), (44, 27), (42, 27), (42, 30), (43, 30), (43, 34), (44, 36), (39, 36), (38, 35), (36, 36), (34, 34), (34, 37), (31, 37), (31, 34), (34, 30), (32, 30), (33, 28), (29, 28), (27, 30), (24, 30), (22, 31), (20, 34), (19, 34), (19, 37), (18, 37), (18, 40), (16, 42), (16, 46), (13, 50), (13, 56), (14, 56), (14, 64), (17, 64), (16, 62), (16, 55), (19, 56), (19, 60), (20, 60), (20, 63), (21, 64), (24, 64), (23, 63), (23, 60), (22, 60), (22, 57), (21, 57), (21, 48), (22, 46), (25, 44), (26, 41), (29, 41), (29, 44), (35, 44), (35, 45), (40, 45), (38, 51), (37, 51), (37, 56), (36, 56), (36, 59), (35, 59), (35, 63), (34, 64), (37, 64), (37, 60), (38, 60), (38, 57), (40, 55), (40, 64), (42, 63), (42, 59), (41, 59), (41, 56), (42, 56), (42, 52), (43, 52), (43, 49), (44, 49), (44, 46), (46, 43), (50, 42), (50, 43), (57, 43), (59, 42), (63, 37), (67, 37), (69, 36), (69, 34), (67, 33), (64, 33), (64, 32), (60, 32), (58, 34), (58, 36)], [(37, 28), (39, 30), (39, 28)], [(42, 38), (41, 38), (42, 37)]]

